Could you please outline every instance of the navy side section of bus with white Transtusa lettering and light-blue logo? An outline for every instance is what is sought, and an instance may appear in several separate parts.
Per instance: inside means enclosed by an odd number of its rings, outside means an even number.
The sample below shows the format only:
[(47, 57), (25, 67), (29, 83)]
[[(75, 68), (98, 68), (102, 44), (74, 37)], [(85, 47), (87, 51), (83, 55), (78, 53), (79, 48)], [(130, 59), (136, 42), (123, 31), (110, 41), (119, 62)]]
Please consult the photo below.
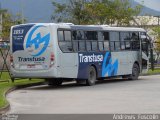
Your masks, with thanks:
[(88, 78), (88, 69), (91, 65), (94, 65), (97, 70), (97, 77), (111, 77), (117, 75), (118, 72), (118, 59), (112, 62), (110, 52), (80, 52), (78, 53), (79, 68), (78, 76), (79, 79)]

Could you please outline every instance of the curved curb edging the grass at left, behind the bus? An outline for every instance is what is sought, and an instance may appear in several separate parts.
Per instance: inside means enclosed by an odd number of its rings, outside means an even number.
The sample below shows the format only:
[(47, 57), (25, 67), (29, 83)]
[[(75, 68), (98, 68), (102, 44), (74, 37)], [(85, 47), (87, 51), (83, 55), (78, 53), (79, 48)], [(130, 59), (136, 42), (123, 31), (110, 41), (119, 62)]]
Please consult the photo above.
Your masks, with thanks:
[[(8, 91), (5, 93), (5, 98), (6, 98), (7, 94), (11, 93), (14, 90), (23, 89), (23, 88), (32, 87), (32, 86), (44, 85), (44, 84), (45, 84), (45, 82), (39, 82), (39, 83), (32, 83), (32, 84), (28, 84), (28, 85), (18, 85), (16, 87), (12, 87), (12, 88), (8, 89)], [(8, 102), (8, 104), (5, 107), (0, 108), (0, 115), (5, 114), (9, 110), (10, 110), (10, 104)]]

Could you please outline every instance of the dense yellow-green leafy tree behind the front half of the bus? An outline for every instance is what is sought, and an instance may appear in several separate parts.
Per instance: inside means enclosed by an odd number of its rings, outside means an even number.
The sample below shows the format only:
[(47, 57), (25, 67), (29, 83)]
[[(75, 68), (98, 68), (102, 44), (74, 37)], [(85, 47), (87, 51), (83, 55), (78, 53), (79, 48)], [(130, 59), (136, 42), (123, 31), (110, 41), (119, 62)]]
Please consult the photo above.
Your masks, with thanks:
[[(129, 25), (133, 16), (140, 13), (141, 6), (131, 7), (128, 0), (92, 0), (89, 5), (90, 15), (99, 24)], [(95, 21), (95, 23), (96, 23)]]

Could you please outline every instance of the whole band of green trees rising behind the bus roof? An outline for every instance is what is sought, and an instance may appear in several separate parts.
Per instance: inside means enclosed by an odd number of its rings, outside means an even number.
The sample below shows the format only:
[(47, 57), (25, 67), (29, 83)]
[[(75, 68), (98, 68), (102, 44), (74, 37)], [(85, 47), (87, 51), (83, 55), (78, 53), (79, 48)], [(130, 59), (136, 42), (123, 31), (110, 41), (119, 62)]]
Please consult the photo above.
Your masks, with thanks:
[(131, 7), (129, 0), (69, 0), (67, 3), (53, 2), (52, 19), (74, 24), (129, 25), (142, 6)]

